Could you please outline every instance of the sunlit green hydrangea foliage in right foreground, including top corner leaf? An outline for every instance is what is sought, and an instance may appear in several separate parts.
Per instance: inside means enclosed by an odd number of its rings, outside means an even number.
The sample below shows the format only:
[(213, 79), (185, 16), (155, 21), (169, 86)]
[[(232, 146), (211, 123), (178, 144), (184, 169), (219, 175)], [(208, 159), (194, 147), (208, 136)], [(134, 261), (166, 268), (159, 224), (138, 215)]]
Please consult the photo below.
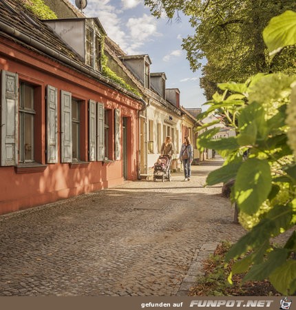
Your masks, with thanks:
[[(271, 19), (264, 30), (274, 50), (295, 43), (296, 13)], [(207, 184), (235, 178), (231, 197), (240, 209), (240, 223), (249, 231), (227, 254), (235, 259), (229, 281), (237, 273), (244, 280), (268, 279), (277, 291), (296, 291), (296, 76), (256, 74), (245, 83), (220, 83), (200, 118), (219, 110), (235, 127), (237, 136), (212, 139), (215, 128), (200, 135), (200, 148), (216, 149), (224, 165), (211, 172)], [(249, 150), (246, 161), (242, 154)], [(285, 231), (284, 247), (272, 239)]]

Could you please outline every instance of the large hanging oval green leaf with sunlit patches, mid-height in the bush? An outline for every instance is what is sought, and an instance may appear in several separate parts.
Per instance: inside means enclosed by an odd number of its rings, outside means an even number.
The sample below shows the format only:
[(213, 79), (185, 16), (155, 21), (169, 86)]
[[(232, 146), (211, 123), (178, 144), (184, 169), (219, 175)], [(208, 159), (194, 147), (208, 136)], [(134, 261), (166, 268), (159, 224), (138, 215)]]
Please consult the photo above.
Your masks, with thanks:
[(241, 165), (235, 179), (235, 200), (246, 214), (254, 214), (271, 191), (268, 161), (249, 158)]

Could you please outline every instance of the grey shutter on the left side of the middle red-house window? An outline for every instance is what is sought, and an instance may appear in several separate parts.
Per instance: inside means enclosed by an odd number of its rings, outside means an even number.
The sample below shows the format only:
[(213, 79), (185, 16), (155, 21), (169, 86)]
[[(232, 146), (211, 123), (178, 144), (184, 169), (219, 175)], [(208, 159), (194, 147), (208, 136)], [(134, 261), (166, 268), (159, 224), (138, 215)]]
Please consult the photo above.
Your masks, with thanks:
[(61, 90), (61, 163), (72, 162), (72, 95)]

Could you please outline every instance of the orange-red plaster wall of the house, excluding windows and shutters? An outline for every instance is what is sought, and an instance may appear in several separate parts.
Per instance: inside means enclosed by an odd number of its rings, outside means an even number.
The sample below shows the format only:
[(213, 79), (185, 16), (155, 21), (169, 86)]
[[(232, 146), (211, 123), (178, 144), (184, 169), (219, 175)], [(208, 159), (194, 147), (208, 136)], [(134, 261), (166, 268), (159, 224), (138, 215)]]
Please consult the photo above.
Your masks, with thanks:
[[(0, 214), (52, 203), (59, 199), (123, 183), (123, 161), (121, 159), (110, 163), (87, 161), (87, 102), (89, 99), (103, 103), (107, 109), (119, 109), (121, 116), (128, 118), (127, 178), (130, 180), (137, 178), (137, 114), (141, 107), (138, 101), (2, 37), (0, 37), (0, 70), (16, 72), (19, 74), (19, 81), (28, 81), (38, 85), (39, 101), (35, 119), (40, 126), (35, 132), (35, 147), (38, 149), (35, 158), (39, 163), (45, 165), (43, 171), (27, 168), (17, 169), (14, 166), (0, 167)], [(81, 145), (81, 158), (86, 163), (76, 165), (61, 163), (61, 148), (59, 146), (58, 163), (46, 164), (45, 90), (47, 85), (58, 89), (58, 111), (61, 110), (61, 90), (71, 92), (73, 97), (83, 102), (81, 134), (84, 143)], [(58, 128), (61, 131), (60, 113), (58, 114)], [(59, 145), (60, 142), (61, 137), (59, 136)], [(114, 145), (114, 137), (110, 143)]]

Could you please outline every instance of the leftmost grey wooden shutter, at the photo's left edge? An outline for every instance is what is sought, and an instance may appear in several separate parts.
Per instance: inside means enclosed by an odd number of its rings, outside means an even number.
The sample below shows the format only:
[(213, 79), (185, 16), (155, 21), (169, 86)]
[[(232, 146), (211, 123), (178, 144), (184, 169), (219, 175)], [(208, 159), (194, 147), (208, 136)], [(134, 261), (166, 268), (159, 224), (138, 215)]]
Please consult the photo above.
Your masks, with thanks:
[(18, 74), (1, 72), (1, 166), (18, 163), (19, 126)]

